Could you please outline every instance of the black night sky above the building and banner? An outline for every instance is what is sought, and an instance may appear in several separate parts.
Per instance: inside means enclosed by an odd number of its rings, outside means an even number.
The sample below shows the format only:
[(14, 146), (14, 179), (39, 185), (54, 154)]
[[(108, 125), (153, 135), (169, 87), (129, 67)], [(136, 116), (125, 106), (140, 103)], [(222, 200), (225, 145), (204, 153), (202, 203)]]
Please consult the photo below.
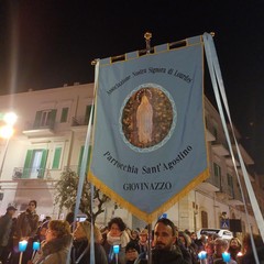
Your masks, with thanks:
[[(0, 95), (94, 81), (91, 61), (215, 32), (231, 117), (264, 174), (264, 0), (0, 2)], [(205, 91), (213, 100), (206, 76)]]

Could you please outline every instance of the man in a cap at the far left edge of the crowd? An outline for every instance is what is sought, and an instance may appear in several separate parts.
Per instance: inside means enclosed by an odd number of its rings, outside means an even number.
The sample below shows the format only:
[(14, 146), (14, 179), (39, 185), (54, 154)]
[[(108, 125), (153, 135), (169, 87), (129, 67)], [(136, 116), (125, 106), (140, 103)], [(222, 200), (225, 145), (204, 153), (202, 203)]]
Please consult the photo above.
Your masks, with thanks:
[(7, 262), (10, 251), (8, 244), (12, 229), (12, 218), (15, 211), (16, 209), (13, 206), (9, 206), (6, 215), (0, 218), (0, 261), (3, 263)]

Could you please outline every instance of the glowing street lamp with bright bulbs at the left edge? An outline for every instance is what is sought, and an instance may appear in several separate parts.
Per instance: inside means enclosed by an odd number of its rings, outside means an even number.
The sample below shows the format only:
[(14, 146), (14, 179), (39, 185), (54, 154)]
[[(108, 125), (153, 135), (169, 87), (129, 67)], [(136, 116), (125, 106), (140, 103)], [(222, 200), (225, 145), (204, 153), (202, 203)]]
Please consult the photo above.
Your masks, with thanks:
[(18, 116), (13, 112), (8, 112), (3, 116), (3, 121), (6, 124), (0, 128), (0, 138), (6, 140), (6, 145), (4, 145), (3, 157), (2, 157), (2, 163), (0, 167), (0, 178), (2, 176), (2, 169), (3, 169), (3, 164), (4, 164), (7, 152), (8, 152), (9, 141), (14, 133), (13, 125), (16, 122), (16, 119), (18, 119)]

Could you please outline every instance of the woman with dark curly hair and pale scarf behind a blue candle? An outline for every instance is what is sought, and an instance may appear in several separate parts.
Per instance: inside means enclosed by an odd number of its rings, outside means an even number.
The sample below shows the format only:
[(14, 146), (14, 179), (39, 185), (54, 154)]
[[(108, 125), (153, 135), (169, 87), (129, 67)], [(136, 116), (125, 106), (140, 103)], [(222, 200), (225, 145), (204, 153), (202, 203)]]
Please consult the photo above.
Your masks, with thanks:
[(130, 242), (130, 238), (125, 232), (125, 223), (121, 218), (113, 218), (108, 223), (108, 229), (107, 241), (103, 245), (108, 255), (108, 263), (116, 263), (113, 245), (119, 245), (119, 263), (125, 264), (125, 246)]

